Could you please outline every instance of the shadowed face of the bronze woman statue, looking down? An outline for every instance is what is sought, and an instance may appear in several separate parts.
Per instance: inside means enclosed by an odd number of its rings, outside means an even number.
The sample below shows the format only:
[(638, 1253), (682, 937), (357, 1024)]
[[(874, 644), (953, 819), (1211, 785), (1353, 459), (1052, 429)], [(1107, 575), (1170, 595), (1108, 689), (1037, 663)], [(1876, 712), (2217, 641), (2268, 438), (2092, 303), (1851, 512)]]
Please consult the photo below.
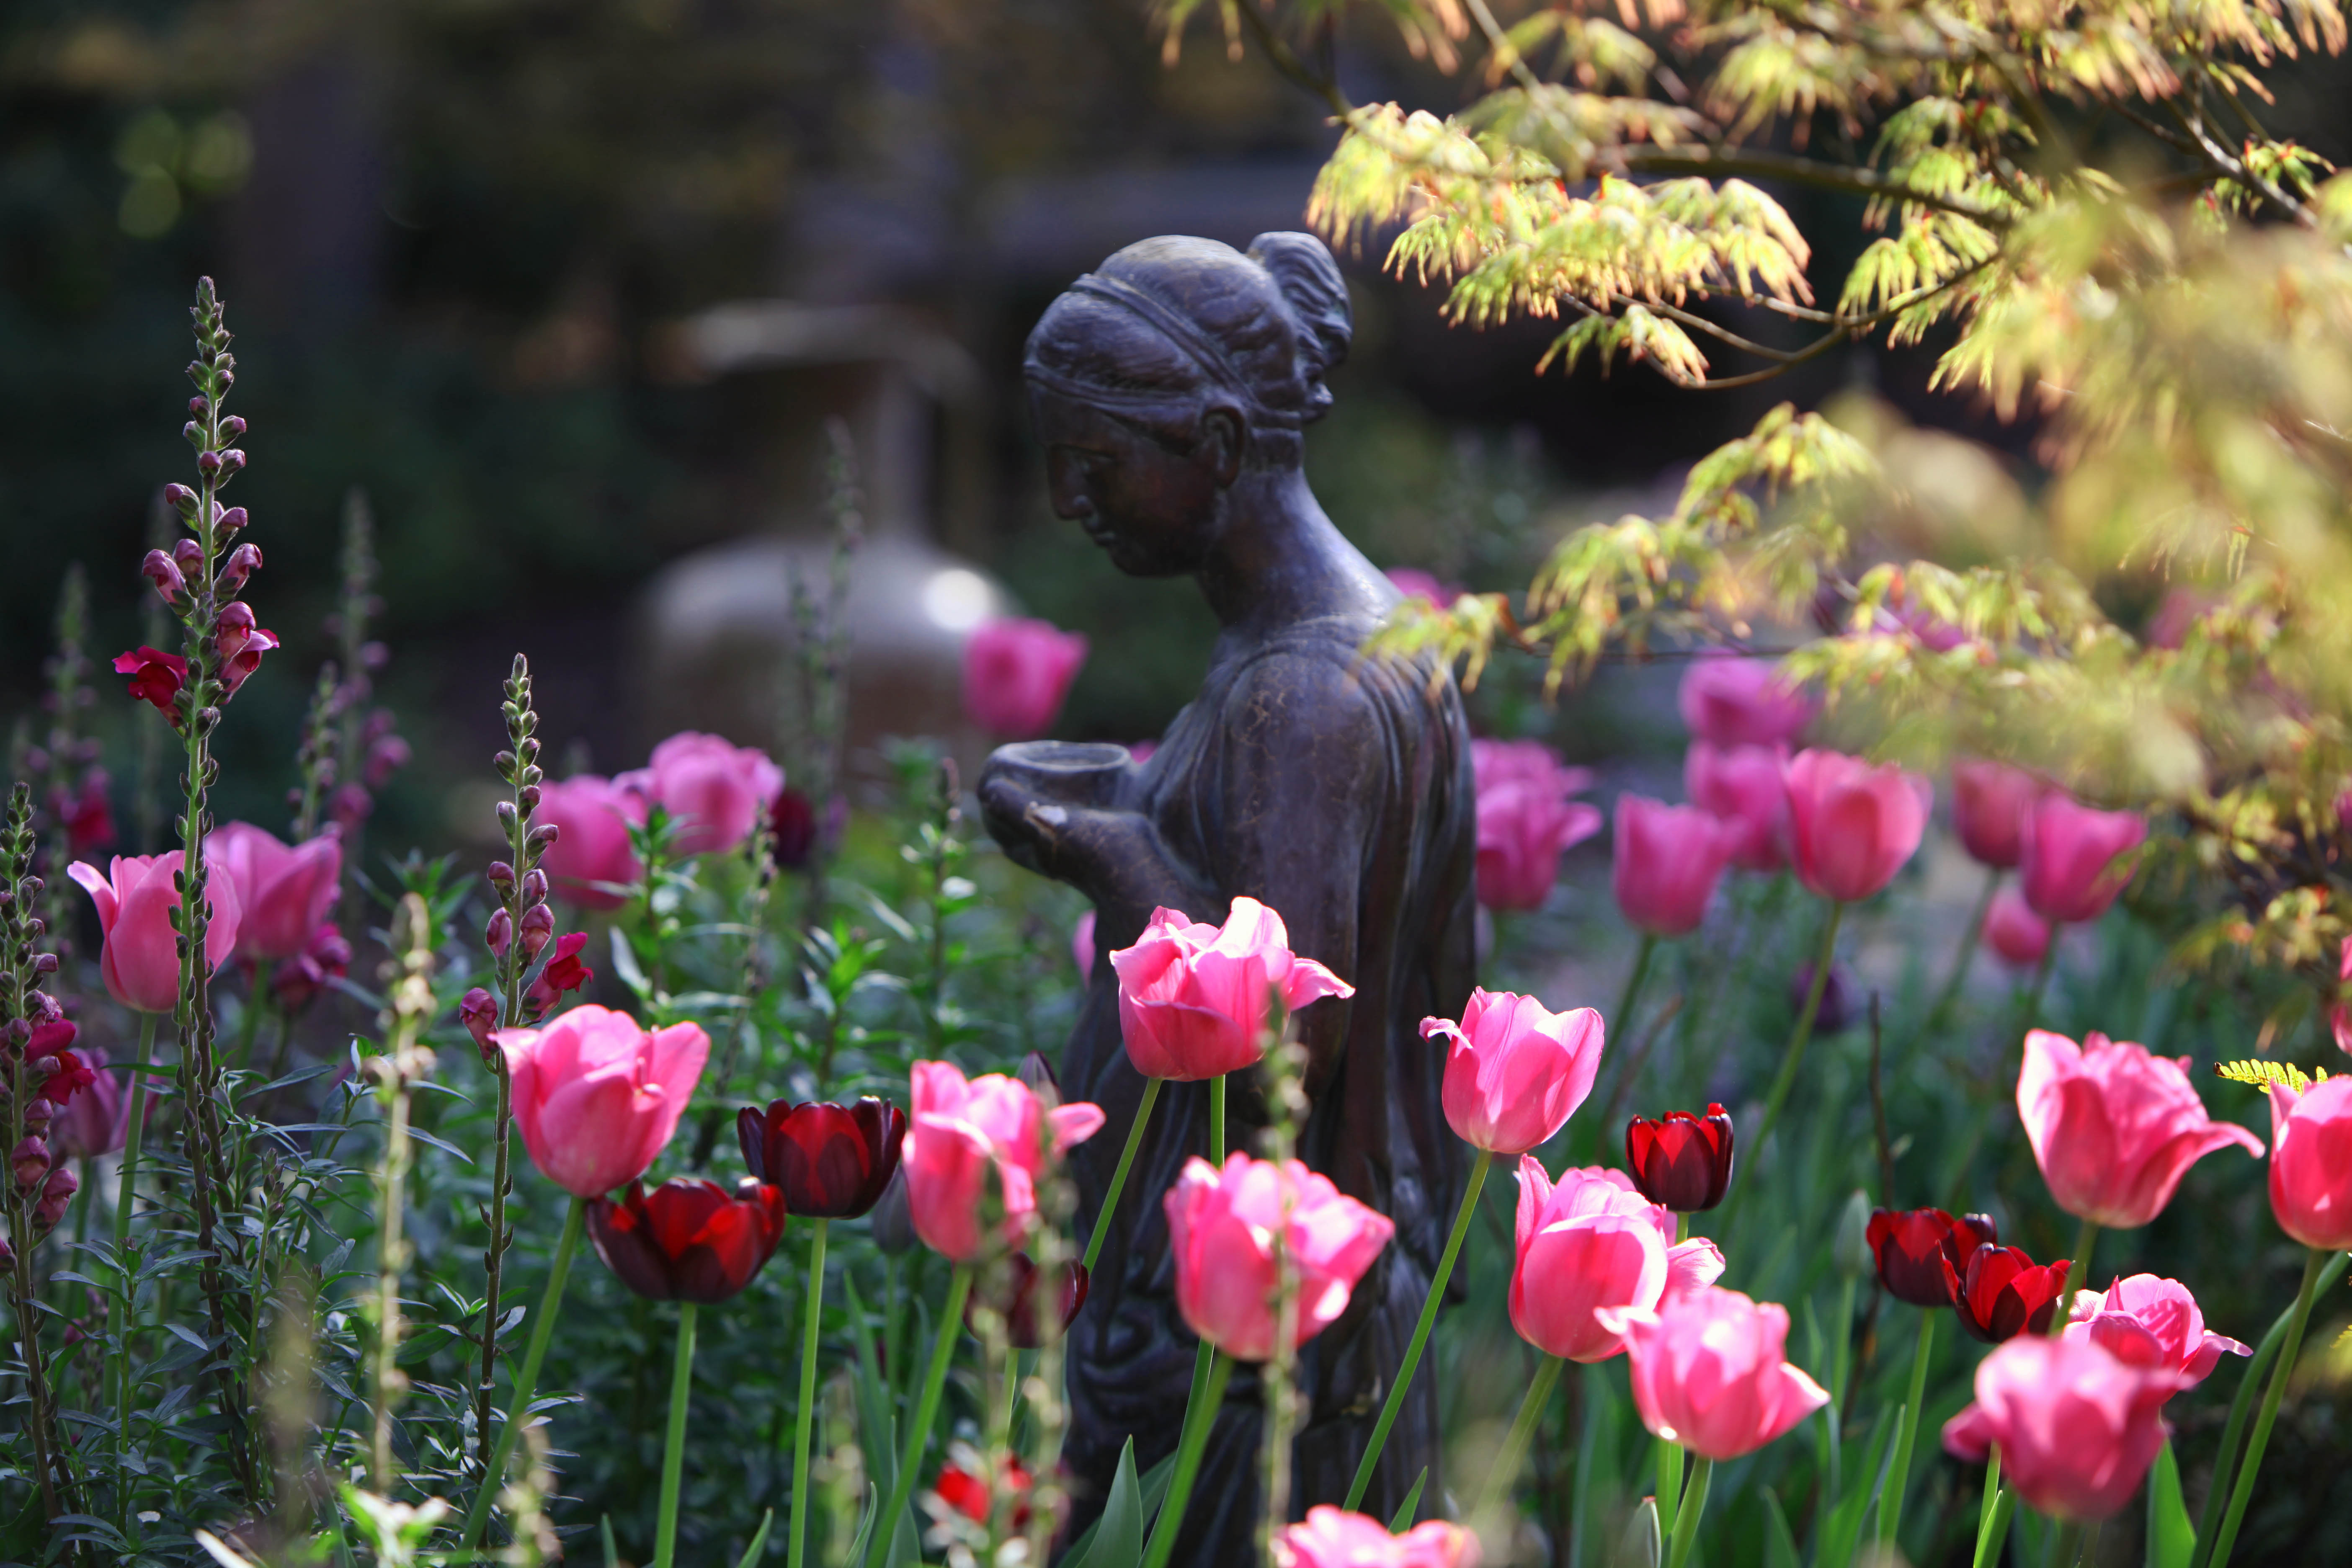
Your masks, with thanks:
[(1174, 451), (1101, 409), (1033, 390), (1054, 515), (1087, 529), (1129, 576), (1200, 571), (1216, 529), (1216, 494), (1230, 482), (1228, 416)]

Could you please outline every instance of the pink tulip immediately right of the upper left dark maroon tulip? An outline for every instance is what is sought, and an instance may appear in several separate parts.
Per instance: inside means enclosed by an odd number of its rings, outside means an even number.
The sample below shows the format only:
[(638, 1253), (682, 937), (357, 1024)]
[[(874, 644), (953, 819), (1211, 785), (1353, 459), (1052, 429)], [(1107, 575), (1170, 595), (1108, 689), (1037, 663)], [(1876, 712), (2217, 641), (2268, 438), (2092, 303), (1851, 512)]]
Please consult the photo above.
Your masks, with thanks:
[(990, 1173), (1004, 1206), (1002, 1244), (1016, 1248), (1037, 1213), (1037, 1180), (1103, 1128), (1098, 1105), (1049, 1110), (1021, 1079), (967, 1079), (955, 1063), (915, 1063), (910, 1103), (901, 1161), (908, 1215), (924, 1246), (950, 1262), (971, 1262), (988, 1246), (981, 1206)]

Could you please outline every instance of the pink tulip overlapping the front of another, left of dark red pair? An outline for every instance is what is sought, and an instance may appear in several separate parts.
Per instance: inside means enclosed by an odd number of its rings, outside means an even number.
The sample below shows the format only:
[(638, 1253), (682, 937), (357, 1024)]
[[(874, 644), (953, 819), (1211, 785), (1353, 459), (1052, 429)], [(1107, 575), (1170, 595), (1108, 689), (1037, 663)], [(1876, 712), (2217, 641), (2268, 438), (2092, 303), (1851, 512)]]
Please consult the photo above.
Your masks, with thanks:
[(1656, 1312), (1604, 1307), (1625, 1335), (1632, 1403), (1642, 1425), (1710, 1460), (1736, 1460), (1830, 1403), (1788, 1363), (1788, 1307), (1705, 1286), (1668, 1295)]

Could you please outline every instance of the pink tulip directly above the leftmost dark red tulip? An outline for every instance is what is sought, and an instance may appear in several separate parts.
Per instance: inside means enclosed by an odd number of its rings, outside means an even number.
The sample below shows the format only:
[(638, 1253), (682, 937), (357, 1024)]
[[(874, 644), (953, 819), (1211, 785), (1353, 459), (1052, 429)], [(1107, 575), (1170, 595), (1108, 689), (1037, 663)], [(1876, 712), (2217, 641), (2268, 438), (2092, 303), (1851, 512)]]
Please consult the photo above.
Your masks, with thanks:
[(710, 1058), (710, 1037), (696, 1023), (647, 1030), (595, 1004), (492, 1039), (515, 1079), (515, 1128), (532, 1164), (583, 1199), (644, 1175)]

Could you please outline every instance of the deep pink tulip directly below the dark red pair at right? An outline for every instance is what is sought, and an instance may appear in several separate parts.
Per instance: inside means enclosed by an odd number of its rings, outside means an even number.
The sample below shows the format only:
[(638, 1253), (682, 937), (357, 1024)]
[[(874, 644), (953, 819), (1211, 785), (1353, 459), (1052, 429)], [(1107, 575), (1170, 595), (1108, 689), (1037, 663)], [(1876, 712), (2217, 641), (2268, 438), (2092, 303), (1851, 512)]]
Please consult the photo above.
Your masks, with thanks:
[(2164, 1446), (2178, 1371), (2140, 1368), (2091, 1338), (2018, 1335), (1976, 1363), (1976, 1403), (1943, 1427), (1943, 1450), (1983, 1462), (2053, 1519), (2107, 1519), (2131, 1502)]

